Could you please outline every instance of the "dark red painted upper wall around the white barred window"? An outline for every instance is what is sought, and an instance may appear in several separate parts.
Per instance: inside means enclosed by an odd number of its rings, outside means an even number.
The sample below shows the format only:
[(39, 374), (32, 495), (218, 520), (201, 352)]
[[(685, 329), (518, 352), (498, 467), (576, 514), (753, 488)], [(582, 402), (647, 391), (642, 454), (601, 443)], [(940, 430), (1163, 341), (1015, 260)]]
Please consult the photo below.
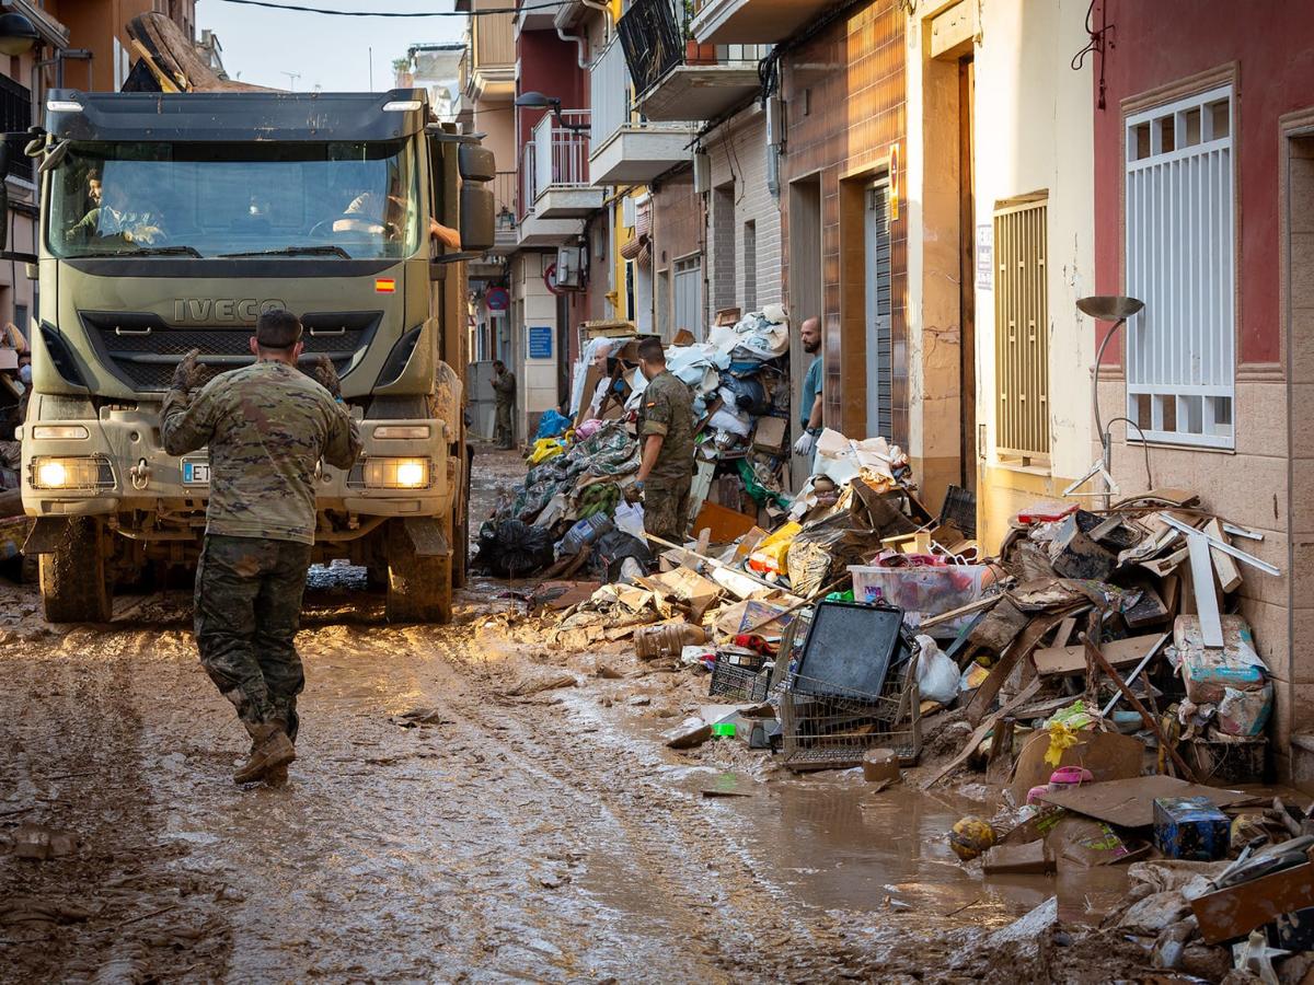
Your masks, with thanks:
[[(1122, 112), (1120, 102), (1198, 72), (1235, 64), (1238, 359), (1281, 359), (1279, 126), (1314, 104), (1314, 4), (1309, 0), (1096, 0), (1114, 42), (1104, 58), (1105, 109), (1095, 112), (1096, 284), (1121, 294)], [(1100, 66), (1096, 64), (1099, 76)], [(1096, 87), (1099, 89), (1099, 87)], [(1099, 95), (1096, 95), (1099, 98)], [(1106, 362), (1121, 362), (1110, 345)]]

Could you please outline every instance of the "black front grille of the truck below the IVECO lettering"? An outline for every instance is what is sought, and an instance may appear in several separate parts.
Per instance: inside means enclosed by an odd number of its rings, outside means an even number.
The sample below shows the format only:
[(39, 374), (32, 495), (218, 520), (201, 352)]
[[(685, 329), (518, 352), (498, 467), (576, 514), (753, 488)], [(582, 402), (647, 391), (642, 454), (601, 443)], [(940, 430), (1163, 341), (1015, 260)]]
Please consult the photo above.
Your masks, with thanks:
[[(317, 311), (301, 317), (305, 326), (302, 370), (319, 356), (332, 360), (344, 376), (353, 357), (369, 345), (382, 311)], [(155, 314), (83, 311), (83, 326), (101, 360), (134, 390), (167, 390), (173, 369), (191, 349), (201, 351), (205, 380), (250, 364), (247, 340), (254, 326), (175, 327)]]

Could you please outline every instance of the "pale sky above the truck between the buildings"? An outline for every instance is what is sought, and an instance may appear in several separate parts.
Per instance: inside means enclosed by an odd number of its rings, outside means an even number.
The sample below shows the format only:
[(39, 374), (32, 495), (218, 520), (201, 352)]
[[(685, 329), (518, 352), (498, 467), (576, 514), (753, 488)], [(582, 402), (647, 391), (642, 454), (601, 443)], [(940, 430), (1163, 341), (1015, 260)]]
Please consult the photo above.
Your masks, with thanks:
[[(451, 11), (452, 0), (271, 0), (335, 11)], [(388, 89), (393, 59), (417, 43), (460, 41), (464, 17), (332, 17), (197, 0), (197, 30), (209, 28), (223, 46), (229, 76), (256, 85), (306, 92)], [(289, 72), (298, 77), (289, 77)]]

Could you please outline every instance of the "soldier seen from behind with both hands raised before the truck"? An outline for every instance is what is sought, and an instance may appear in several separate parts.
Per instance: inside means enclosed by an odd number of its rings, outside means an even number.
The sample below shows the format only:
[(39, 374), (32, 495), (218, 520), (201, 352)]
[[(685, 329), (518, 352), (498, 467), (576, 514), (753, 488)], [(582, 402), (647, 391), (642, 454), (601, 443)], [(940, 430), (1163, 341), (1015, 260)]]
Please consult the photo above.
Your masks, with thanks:
[(350, 469), (360, 454), (332, 362), (315, 382), (297, 369), (301, 322), (265, 311), (256, 362), (214, 377), (193, 395), (196, 349), (164, 397), (160, 431), (170, 454), (209, 445), (210, 500), (196, 569), (201, 666), (251, 735), (237, 783), (281, 783), (296, 759), (297, 695), (305, 687), (293, 638), (301, 621), (315, 532), (315, 465)]

